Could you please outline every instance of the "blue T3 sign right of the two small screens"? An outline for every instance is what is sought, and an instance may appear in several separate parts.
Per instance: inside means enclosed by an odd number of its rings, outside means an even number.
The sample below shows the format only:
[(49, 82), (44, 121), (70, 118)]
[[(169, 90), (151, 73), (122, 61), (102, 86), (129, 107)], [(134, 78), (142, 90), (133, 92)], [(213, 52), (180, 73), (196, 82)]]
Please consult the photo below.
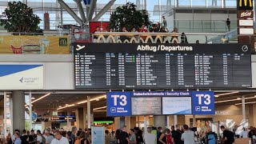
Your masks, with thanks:
[(214, 92), (194, 91), (192, 93), (192, 113), (193, 114), (215, 114)]

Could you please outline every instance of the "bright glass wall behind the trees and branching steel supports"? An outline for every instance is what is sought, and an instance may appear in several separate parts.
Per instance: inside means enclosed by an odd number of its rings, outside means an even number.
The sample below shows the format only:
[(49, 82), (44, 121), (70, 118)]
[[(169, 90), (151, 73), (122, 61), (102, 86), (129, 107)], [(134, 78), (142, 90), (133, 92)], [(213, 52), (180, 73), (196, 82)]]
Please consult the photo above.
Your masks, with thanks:
[[(7, 2), (10, 1), (13, 0), (0, 0), (0, 13), (6, 9)], [(42, 22), (39, 25), (41, 28), (43, 28), (44, 13), (50, 14), (50, 30), (58, 30), (58, 26), (61, 22), (62, 24), (78, 24), (70, 14), (59, 6), (57, 0), (22, 0), (22, 2), (27, 2), (27, 5), (34, 9), (34, 14), (38, 14), (38, 16), (42, 18)], [(64, 2), (79, 15), (78, 7), (74, 0), (64, 0)], [(109, 0), (98, 0), (96, 13), (102, 10), (107, 2), (109, 2)], [(115, 10), (116, 7), (126, 4), (126, 2), (134, 2), (137, 4), (139, 10), (148, 10), (151, 22), (161, 22), (162, 14), (164, 14), (166, 10), (170, 10), (174, 7), (236, 7), (236, 0), (116, 0), (110, 10), (108, 10), (99, 21), (109, 21), (111, 12)], [(86, 11), (86, 6), (83, 2), (82, 6)]]

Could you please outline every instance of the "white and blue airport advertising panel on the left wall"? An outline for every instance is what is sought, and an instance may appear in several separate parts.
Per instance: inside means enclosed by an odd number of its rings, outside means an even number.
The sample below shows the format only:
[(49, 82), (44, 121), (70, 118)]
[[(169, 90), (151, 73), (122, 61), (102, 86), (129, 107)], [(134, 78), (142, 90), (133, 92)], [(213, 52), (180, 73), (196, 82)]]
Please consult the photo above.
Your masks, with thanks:
[(43, 65), (0, 65), (0, 90), (42, 90)]

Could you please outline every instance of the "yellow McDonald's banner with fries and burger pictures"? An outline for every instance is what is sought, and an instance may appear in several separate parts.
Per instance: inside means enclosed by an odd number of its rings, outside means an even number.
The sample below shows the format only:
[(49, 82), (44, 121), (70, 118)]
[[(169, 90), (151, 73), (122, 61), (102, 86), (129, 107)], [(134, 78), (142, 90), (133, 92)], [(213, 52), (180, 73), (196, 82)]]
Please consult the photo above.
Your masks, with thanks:
[(70, 54), (68, 36), (1, 35), (0, 54)]

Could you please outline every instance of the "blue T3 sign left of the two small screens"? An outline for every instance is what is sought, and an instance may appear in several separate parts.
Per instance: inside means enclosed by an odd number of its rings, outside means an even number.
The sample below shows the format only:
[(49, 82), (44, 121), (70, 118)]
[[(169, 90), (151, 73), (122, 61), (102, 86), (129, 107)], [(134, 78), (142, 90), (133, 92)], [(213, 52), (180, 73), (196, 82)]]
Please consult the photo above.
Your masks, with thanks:
[(130, 116), (130, 92), (109, 92), (106, 97), (107, 116)]

